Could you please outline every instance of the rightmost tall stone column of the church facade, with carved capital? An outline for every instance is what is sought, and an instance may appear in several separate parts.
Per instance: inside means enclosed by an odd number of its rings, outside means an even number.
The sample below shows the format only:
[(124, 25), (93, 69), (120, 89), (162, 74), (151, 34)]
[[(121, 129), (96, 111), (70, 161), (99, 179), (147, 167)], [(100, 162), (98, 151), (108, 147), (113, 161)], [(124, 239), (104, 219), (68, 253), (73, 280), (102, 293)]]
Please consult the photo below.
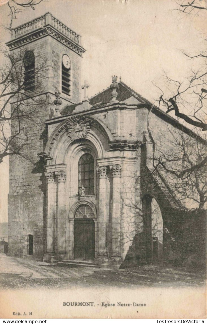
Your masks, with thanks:
[(121, 221), (121, 197), (120, 197), (120, 177), (121, 166), (120, 164), (114, 164), (110, 166), (113, 177), (113, 193), (112, 193), (112, 258), (121, 258), (120, 254), (120, 221)]

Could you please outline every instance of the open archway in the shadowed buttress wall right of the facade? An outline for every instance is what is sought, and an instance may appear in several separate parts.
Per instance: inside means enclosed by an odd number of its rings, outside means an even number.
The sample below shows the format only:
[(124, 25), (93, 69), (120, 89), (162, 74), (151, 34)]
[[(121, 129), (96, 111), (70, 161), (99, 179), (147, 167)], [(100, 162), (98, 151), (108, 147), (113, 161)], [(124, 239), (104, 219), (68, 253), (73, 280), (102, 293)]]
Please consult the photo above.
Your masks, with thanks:
[(145, 250), (147, 262), (162, 259), (163, 220), (157, 201), (150, 195), (142, 200)]

